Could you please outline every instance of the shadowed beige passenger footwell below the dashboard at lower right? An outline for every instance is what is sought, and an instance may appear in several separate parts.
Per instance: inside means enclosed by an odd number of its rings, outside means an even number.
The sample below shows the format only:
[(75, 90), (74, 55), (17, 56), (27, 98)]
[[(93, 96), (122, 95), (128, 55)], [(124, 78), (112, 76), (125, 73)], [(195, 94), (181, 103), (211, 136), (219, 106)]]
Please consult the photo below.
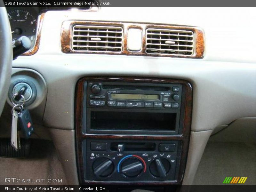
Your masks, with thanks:
[(222, 185), (226, 177), (248, 177), (256, 185), (256, 118), (241, 118), (212, 135), (193, 185)]

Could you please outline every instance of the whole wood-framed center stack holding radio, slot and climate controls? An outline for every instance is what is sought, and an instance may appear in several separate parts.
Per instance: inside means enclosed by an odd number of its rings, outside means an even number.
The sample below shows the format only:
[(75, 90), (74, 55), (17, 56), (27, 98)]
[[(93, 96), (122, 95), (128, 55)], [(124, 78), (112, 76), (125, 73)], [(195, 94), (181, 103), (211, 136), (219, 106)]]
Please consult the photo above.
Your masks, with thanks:
[(183, 80), (89, 77), (76, 86), (80, 184), (180, 184), (192, 87)]

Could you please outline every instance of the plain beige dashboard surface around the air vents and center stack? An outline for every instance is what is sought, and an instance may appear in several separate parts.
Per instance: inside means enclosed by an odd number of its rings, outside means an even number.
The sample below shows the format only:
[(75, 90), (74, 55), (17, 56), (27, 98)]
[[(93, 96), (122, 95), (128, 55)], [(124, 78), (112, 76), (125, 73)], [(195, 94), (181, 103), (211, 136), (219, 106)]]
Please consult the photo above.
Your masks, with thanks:
[[(243, 14), (236, 15), (236, 12)], [(227, 14), (228, 13), (228, 14)], [(227, 16), (228, 15), (228, 16)], [(75, 87), (82, 77), (133, 76), (189, 81), (193, 111), (183, 185), (192, 184), (212, 131), (242, 117), (256, 117), (255, 29), (251, 8), (101, 8), (99, 11), (49, 11), (44, 15), (37, 52), (13, 61), (13, 74), (32, 71), (44, 79), (45, 98), (31, 106), (50, 128), (70, 184), (77, 184)], [(248, 20), (251, 18), (251, 20)], [(204, 31), (201, 59), (115, 54), (68, 54), (61, 50), (63, 23), (69, 20), (197, 26)], [(65, 40), (65, 39), (64, 39)], [(65, 142), (63, 142), (65, 140)]]

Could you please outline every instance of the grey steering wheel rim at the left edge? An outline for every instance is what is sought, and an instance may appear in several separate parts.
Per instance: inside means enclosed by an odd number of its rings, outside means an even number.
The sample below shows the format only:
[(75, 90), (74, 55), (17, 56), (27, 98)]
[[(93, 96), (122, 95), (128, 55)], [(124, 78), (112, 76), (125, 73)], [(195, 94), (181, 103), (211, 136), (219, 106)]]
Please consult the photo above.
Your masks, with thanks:
[(0, 116), (2, 114), (12, 72), (12, 33), (4, 2), (0, 0)]

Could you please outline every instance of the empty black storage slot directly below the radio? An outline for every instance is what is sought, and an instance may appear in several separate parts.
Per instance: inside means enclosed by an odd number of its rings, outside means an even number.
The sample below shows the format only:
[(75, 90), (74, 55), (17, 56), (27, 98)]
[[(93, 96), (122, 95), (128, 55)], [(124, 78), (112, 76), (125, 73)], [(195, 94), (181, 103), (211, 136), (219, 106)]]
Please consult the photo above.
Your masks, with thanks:
[(175, 131), (177, 113), (166, 111), (90, 111), (90, 130)]

